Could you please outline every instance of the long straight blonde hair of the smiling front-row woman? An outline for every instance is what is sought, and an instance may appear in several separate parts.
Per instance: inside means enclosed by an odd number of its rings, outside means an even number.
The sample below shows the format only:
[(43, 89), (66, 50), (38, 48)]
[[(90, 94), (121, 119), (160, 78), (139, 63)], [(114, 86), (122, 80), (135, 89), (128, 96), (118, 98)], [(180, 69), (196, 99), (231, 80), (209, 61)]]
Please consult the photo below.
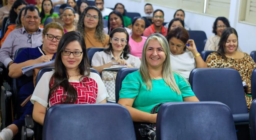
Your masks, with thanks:
[(147, 49), (147, 45), (150, 40), (157, 40), (161, 44), (161, 46), (164, 50), (164, 53), (166, 55), (166, 59), (164, 60), (164, 64), (163, 64), (163, 68), (162, 68), (163, 79), (166, 82), (167, 86), (171, 87), (172, 91), (177, 92), (177, 94), (180, 95), (181, 91), (179, 90), (179, 87), (176, 84), (174, 74), (172, 73), (172, 69), (171, 69), (169, 44), (168, 44), (166, 38), (163, 35), (161, 35), (160, 33), (154, 33), (154, 34), (150, 35), (147, 38), (147, 40), (144, 44), (144, 47), (143, 47), (143, 51), (142, 51), (141, 67), (139, 69), (139, 72), (141, 74), (144, 84), (146, 84), (146, 86), (147, 86), (147, 90), (152, 89), (152, 81), (149, 76), (149, 69), (147, 67), (147, 61), (146, 61), (146, 49)]

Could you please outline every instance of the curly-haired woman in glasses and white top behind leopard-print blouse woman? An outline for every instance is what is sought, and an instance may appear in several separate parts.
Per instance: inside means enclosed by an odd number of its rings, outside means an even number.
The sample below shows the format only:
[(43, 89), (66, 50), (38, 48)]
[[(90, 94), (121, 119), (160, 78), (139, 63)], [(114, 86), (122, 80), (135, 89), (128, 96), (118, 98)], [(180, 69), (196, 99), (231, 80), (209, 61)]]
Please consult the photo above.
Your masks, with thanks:
[[(223, 30), (225, 30), (227, 27), (230, 27), (229, 21), (227, 18), (222, 16), (216, 18), (212, 26), (212, 33), (214, 33), (215, 35), (210, 36), (207, 39), (206, 44), (204, 46), (204, 50), (217, 51), (219, 48), (219, 40), (221, 39), (221, 34)], [(238, 47), (238, 51), (242, 51), (242, 50)]]

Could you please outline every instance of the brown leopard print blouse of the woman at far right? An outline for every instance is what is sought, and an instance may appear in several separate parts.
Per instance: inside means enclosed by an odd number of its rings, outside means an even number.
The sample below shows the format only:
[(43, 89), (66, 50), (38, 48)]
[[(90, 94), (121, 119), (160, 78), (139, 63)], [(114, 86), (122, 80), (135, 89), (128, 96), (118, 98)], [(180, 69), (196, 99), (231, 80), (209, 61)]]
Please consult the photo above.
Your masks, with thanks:
[[(256, 68), (256, 63), (253, 61), (248, 53), (244, 53), (244, 57), (241, 59), (222, 58), (218, 53), (214, 52), (209, 54), (206, 59), (207, 66), (210, 68), (233, 68), (236, 69), (242, 77), (242, 81), (251, 87), (251, 73)], [(252, 98), (246, 96), (246, 102), (248, 109), (251, 107)]]

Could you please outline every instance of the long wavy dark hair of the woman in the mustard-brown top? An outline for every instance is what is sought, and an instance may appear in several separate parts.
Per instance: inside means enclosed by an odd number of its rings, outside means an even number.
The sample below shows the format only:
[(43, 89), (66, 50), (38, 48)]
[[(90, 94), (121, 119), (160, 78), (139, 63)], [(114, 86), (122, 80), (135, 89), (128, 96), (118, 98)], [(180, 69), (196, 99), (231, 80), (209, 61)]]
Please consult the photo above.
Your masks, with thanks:
[(95, 34), (94, 34), (94, 38), (97, 41), (99, 41), (100, 43), (104, 43), (104, 40), (106, 39), (106, 35), (104, 33), (104, 30), (103, 30), (103, 28), (104, 28), (103, 18), (102, 18), (102, 14), (101, 14), (100, 10), (95, 6), (86, 7), (84, 12), (81, 13), (81, 15), (79, 17), (79, 20), (78, 20), (78, 23), (77, 23), (77, 31), (79, 31), (85, 37), (84, 17), (85, 17), (85, 14), (90, 9), (96, 10), (98, 12), (98, 15), (99, 15), (99, 22), (98, 22), (98, 25), (96, 26), (96, 31), (95, 31)]

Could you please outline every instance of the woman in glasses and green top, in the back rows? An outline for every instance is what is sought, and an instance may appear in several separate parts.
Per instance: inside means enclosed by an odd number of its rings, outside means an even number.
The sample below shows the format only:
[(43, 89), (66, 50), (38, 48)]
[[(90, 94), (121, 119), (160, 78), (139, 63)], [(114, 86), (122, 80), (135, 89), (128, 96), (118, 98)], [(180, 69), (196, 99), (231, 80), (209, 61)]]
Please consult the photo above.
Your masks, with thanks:
[[(114, 7), (115, 11), (118, 11), (122, 14), (123, 19), (124, 19), (124, 26), (131, 29), (132, 28), (132, 20), (128, 16), (125, 15), (125, 8), (122, 3), (116, 3)], [(106, 20), (109, 19), (109, 16), (105, 17)]]

